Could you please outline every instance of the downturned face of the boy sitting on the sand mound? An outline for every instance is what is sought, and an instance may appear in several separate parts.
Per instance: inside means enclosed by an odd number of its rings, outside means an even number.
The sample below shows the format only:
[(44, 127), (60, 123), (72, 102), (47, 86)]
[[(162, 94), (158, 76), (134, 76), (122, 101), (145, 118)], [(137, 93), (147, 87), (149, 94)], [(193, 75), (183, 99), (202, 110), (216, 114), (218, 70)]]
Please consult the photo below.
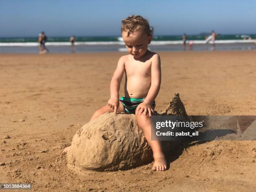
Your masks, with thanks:
[(122, 32), (123, 41), (129, 54), (134, 58), (140, 58), (148, 50), (148, 44), (152, 40), (152, 36), (148, 36), (142, 27), (138, 27), (134, 33), (127, 36), (127, 31)]

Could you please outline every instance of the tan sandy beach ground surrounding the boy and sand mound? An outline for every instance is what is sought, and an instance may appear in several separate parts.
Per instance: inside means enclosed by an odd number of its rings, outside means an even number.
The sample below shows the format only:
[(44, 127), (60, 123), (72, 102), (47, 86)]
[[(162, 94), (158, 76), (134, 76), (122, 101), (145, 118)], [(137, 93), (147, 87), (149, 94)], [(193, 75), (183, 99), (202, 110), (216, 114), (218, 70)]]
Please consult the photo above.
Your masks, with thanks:
[[(67, 168), (61, 151), (106, 105), (122, 54), (0, 55), (0, 182), (35, 191), (255, 190), (256, 141), (184, 142), (165, 172), (152, 164), (82, 175)], [(255, 51), (159, 54), (157, 111), (179, 92), (188, 115), (256, 115)]]

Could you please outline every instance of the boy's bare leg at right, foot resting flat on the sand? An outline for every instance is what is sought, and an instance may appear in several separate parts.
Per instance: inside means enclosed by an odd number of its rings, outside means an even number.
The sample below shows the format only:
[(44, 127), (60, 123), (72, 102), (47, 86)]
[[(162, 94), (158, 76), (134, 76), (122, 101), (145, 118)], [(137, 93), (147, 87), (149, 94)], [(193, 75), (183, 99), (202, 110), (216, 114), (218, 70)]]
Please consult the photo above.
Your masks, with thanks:
[(140, 115), (136, 113), (136, 120), (138, 126), (144, 133), (144, 136), (151, 146), (154, 156), (154, 165), (152, 170), (154, 171), (164, 171), (166, 170), (166, 159), (162, 150), (161, 141), (151, 141), (151, 117), (143, 113)]

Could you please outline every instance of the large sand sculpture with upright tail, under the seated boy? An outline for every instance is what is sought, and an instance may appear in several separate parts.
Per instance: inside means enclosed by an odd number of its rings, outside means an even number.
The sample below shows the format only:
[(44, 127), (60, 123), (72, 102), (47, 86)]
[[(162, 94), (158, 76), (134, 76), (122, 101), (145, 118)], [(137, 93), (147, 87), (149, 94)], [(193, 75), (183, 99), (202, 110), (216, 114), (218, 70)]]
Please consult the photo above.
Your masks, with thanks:
[[(174, 94), (166, 110), (156, 115), (179, 115), (188, 119), (179, 93)], [(164, 150), (170, 142), (164, 142)], [(105, 113), (77, 131), (67, 161), (69, 168), (78, 171), (115, 171), (148, 164), (153, 156), (135, 115)]]

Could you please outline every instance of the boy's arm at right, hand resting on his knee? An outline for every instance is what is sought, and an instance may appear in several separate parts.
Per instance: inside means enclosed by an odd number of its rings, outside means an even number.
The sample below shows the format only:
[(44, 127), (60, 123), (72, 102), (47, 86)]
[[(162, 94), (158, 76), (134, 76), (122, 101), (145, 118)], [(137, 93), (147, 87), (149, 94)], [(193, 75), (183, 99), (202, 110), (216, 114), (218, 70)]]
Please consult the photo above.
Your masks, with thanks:
[(140, 110), (140, 115), (144, 112), (146, 115), (149, 113), (149, 116), (152, 115), (154, 112), (151, 108), (151, 103), (154, 102), (156, 99), (156, 96), (159, 93), (160, 90), (160, 84), (161, 84), (161, 61), (160, 56), (158, 54), (155, 54), (152, 57), (151, 62), (151, 86), (148, 90), (148, 95), (146, 96), (143, 103), (140, 104), (140, 106), (137, 107), (136, 110)]

